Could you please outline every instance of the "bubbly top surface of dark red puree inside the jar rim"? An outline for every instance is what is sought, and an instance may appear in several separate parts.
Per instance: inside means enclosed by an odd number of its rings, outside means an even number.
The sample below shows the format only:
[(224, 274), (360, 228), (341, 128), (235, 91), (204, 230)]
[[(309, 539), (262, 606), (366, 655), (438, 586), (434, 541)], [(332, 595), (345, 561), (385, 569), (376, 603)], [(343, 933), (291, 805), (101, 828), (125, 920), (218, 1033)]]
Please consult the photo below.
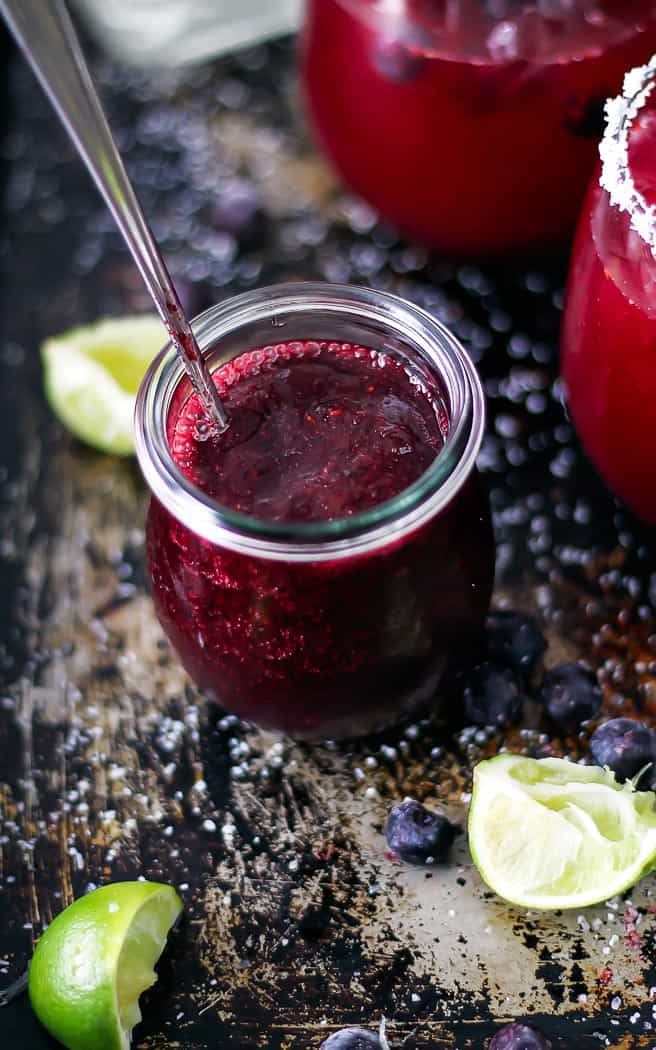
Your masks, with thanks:
[(268, 346), (225, 365), (215, 382), (230, 428), (208, 437), (190, 398), (173, 422), (173, 458), (208, 496), (263, 521), (375, 507), (411, 485), (444, 443), (439, 392), (366, 346)]

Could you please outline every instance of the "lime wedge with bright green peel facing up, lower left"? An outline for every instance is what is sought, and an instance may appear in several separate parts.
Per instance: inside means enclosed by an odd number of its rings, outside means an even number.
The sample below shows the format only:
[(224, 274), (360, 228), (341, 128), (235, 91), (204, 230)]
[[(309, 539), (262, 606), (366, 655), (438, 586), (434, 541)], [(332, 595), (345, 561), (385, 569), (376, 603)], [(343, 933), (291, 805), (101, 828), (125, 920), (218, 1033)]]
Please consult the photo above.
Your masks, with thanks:
[(68, 1050), (128, 1050), (182, 909), (172, 886), (118, 882), (62, 911), (29, 966), (29, 999), (50, 1034)]

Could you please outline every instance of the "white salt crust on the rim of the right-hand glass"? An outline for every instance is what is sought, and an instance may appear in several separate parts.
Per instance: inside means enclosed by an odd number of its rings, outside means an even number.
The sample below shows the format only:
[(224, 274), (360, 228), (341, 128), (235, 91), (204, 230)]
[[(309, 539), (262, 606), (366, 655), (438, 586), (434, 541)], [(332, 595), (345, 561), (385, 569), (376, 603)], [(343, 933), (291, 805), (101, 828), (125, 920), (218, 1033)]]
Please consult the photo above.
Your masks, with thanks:
[(650, 205), (635, 185), (629, 161), (633, 123), (656, 87), (656, 55), (625, 76), (621, 93), (606, 103), (606, 129), (599, 143), (599, 185), (611, 205), (628, 214), (631, 228), (656, 258), (656, 205)]

